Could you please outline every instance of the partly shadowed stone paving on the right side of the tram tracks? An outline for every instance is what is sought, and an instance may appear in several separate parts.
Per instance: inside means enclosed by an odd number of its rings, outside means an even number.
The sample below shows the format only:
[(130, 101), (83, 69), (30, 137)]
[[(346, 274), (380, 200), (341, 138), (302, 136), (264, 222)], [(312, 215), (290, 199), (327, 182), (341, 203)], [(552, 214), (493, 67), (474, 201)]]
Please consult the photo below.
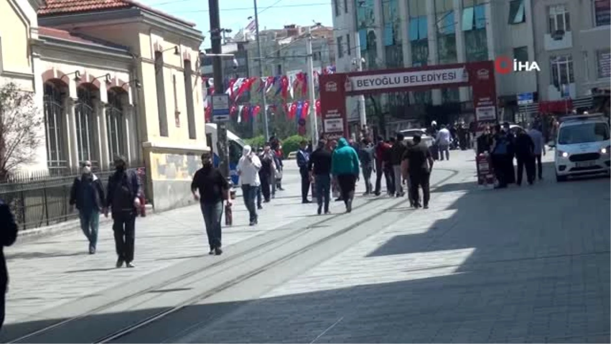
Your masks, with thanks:
[(478, 190), (453, 155), (437, 166), (463, 173), (430, 209), (384, 214), (397, 221), (174, 343), (611, 342), (610, 180), (558, 184), (548, 165), (533, 186)]

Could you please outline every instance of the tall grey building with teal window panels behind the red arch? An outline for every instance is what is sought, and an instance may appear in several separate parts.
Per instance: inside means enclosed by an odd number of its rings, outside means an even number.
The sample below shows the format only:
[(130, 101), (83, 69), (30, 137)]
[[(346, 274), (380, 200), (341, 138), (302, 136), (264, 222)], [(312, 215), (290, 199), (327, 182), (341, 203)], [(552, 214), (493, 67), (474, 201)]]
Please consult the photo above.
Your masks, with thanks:
[[(354, 70), (356, 47), (365, 69), (494, 60), (498, 56), (529, 61), (535, 56), (531, 1), (334, 0), (337, 69)], [(536, 98), (536, 91), (536, 73), (497, 78), (497, 94), (510, 117), (519, 110), (518, 94), (533, 92)], [(468, 118), (472, 113), (469, 88), (380, 98), (382, 112), (389, 114), (390, 121), (448, 112)]]

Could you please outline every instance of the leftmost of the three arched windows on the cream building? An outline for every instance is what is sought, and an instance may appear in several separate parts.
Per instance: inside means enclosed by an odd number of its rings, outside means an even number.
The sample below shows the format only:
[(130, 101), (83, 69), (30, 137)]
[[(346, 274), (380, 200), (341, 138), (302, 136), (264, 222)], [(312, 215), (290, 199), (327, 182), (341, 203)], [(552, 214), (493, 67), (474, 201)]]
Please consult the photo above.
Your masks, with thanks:
[(68, 163), (64, 149), (64, 107), (62, 93), (56, 84), (45, 83), (44, 111), (46, 133), (46, 159), (49, 170), (65, 168)]

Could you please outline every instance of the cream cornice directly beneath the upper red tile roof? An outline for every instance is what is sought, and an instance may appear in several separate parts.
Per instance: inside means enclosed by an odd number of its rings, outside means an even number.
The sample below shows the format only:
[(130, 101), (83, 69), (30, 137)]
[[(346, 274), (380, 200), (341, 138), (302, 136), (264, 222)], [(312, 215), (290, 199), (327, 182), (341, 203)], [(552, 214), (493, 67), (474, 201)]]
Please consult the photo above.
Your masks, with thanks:
[(183, 39), (190, 40), (194, 46), (199, 46), (204, 38), (201, 31), (139, 8), (38, 17), (38, 24), (40, 26), (49, 26), (51, 28), (65, 28), (67, 26), (71, 28), (84, 28), (119, 23), (148, 24), (156, 29), (161, 29), (161, 31), (170, 32)]

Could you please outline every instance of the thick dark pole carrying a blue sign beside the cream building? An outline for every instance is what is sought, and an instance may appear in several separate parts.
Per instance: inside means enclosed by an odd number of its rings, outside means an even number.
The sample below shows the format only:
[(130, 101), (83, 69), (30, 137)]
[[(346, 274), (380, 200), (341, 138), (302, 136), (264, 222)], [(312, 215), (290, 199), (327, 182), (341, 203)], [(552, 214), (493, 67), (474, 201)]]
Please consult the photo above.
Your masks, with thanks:
[[(219, 13), (219, 0), (208, 0), (210, 10), (210, 43), (212, 46), (212, 75), (214, 79), (214, 94), (223, 94), (223, 69), (221, 54), (221, 16)], [(218, 136), (216, 149), (221, 158), (220, 170), (227, 180), (231, 181), (229, 174), (229, 149), (227, 149), (227, 124), (219, 122), (216, 124), (216, 135)]]

